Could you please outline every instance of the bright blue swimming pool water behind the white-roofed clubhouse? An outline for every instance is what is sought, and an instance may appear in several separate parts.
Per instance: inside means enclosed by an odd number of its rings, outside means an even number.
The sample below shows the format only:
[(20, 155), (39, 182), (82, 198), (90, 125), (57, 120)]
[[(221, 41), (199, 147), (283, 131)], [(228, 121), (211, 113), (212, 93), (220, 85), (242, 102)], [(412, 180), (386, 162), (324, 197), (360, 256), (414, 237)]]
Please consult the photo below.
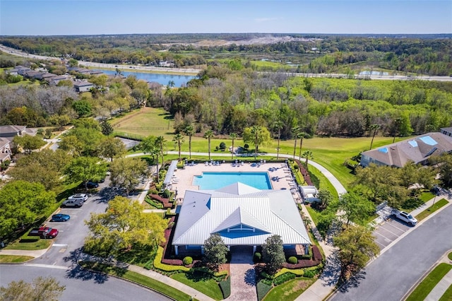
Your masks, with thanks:
[(203, 172), (193, 179), (193, 185), (203, 190), (220, 189), (236, 182), (257, 189), (272, 189), (267, 172)]

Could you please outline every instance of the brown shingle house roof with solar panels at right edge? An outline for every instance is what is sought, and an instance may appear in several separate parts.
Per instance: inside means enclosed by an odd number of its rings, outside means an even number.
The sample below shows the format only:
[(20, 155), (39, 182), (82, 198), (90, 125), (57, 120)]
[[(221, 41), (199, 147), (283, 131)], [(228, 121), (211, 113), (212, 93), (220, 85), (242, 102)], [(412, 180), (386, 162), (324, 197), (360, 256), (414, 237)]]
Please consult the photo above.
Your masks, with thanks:
[(362, 155), (388, 166), (403, 167), (409, 161), (420, 163), (434, 154), (450, 151), (452, 137), (434, 132), (365, 151)]

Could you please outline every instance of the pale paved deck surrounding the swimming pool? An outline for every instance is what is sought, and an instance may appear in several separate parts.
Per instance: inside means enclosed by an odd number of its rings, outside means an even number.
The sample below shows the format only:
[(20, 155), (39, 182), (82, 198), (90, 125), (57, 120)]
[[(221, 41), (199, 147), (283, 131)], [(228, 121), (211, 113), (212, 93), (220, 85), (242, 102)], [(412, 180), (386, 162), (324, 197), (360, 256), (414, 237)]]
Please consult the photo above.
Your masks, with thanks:
[[(198, 163), (196, 165), (186, 165), (183, 170), (178, 169), (174, 172), (172, 186), (170, 189), (177, 190), (176, 199), (180, 202), (185, 195), (186, 190), (199, 190), (198, 186), (194, 186), (193, 178), (196, 175), (202, 175), (203, 172), (268, 172), (270, 183), (273, 189), (290, 190), (293, 177), (289, 168), (285, 163), (262, 163), (260, 165), (244, 163), (234, 164), (222, 163), (220, 165), (205, 165)], [(276, 179), (276, 180), (275, 180)], [(294, 201), (300, 202), (299, 192), (292, 193)]]

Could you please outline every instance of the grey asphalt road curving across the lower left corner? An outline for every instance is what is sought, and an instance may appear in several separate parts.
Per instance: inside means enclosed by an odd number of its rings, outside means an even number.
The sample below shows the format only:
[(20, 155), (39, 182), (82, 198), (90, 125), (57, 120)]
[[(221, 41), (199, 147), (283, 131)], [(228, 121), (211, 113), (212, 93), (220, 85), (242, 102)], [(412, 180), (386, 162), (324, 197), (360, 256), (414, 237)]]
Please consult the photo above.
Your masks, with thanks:
[(0, 270), (0, 284), (6, 286), (11, 281), (31, 282), (38, 276), (57, 278), (60, 285), (66, 285), (59, 300), (156, 300), (166, 301), (167, 297), (134, 285), (128, 281), (91, 273), (81, 268), (66, 270), (63, 268), (45, 268), (16, 264), (3, 264)]

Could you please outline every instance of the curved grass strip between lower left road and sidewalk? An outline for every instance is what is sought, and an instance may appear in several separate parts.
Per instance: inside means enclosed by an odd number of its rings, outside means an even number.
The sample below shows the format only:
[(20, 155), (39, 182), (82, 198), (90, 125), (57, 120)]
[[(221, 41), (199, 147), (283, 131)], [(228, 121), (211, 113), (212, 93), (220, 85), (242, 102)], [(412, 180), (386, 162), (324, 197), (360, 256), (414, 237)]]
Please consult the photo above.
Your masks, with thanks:
[(108, 273), (110, 275), (118, 276), (129, 281), (133, 281), (135, 283), (139, 283), (146, 288), (150, 288), (155, 290), (156, 292), (162, 293), (163, 295), (167, 295), (168, 297), (172, 297), (174, 300), (191, 300), (191, 297), (186, 293), (182, 293), (180, 290), (172, 288), (165, 283), (160, 281), (156, 281), (153, 278), (149, 278), (143, 276), (139, 273), (135, 273), (133, 271), (126, 271), (124, 268), (114, 268), (112, 266), (107, 266), (106, 264), (99, 264), (97, 262), (80, 262), (79, 263), (83, 268), (89, 268), (94, 271), (100, 271), (102, 273)]

